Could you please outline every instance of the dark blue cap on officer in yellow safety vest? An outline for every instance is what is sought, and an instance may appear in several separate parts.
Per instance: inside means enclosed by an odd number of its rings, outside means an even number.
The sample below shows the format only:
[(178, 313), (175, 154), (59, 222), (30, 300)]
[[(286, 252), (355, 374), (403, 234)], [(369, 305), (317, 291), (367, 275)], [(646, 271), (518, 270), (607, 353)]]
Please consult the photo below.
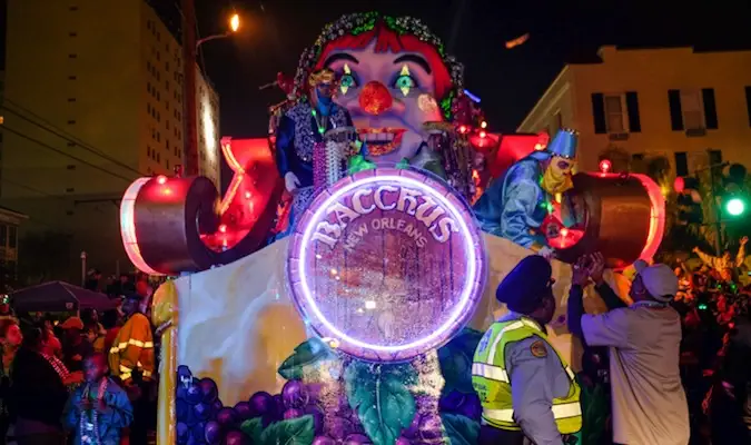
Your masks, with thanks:
[(551, 264), (540, 255), (531, 255), (503, 278), (495, 289), (495, 298), (515, 313), (528, 314), (550, 294), (552, 277)]

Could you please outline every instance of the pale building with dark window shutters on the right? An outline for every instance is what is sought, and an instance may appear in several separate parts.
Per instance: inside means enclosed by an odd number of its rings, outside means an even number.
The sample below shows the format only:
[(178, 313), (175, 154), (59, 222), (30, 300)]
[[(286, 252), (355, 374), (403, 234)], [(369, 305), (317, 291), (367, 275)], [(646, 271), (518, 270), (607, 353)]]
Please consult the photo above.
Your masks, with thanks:
[(663, 157), (679, 176), (722, 161), (751, 167), (751, 51), (603, 47), (567, 65), (518, 127), (580, 131), (580, 166), (639, 170)]

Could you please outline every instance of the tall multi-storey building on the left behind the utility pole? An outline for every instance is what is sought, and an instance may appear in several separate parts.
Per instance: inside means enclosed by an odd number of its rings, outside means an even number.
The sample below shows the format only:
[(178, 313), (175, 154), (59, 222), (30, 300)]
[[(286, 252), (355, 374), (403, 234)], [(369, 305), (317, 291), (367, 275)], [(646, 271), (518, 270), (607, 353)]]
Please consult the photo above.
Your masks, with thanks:
[(129, 271), (123, 191), (184, 164), (181, 47), (144, 0), (9, 0), (7, 23), (1, 202), (65, 234), (70, 264)]

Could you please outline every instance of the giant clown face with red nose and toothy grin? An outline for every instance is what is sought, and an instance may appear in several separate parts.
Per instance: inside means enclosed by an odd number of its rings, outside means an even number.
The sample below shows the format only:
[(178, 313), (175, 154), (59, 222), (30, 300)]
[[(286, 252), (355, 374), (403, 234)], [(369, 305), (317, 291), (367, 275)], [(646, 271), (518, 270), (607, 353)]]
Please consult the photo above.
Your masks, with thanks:
[(423, 123), (443, 120), (434, 70), (417, 52), (338, 49), (323, 66), (340, 80), (335, 100), (347, 108), (374, 161), (412, 159), (423, 144)]

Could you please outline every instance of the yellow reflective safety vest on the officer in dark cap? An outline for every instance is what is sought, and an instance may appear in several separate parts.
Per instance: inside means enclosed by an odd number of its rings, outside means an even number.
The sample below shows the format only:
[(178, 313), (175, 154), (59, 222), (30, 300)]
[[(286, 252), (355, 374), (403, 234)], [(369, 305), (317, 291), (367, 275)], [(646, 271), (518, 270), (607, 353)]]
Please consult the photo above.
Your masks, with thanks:
[[(497, 322), (485, 333), (477, 346), (472, 364), (472, 385), (483, 405), (483, 419), (491, 426), (501, 429), (521, 429), (514, 421), (505, 349), (507, 345), (532, 336), (537, 336), (550, 345), (540, 325), (530, 318)], [(555, 348), (552, 346), (551, 348), (555, 350), (561, 366), (571, 380), (569, 394), (565, 397), (553, 399), (553, 417), (561, 434), (574, 434), (582, 428), (582, 407), (579, 403), (581, 389), (565, 359)]]

